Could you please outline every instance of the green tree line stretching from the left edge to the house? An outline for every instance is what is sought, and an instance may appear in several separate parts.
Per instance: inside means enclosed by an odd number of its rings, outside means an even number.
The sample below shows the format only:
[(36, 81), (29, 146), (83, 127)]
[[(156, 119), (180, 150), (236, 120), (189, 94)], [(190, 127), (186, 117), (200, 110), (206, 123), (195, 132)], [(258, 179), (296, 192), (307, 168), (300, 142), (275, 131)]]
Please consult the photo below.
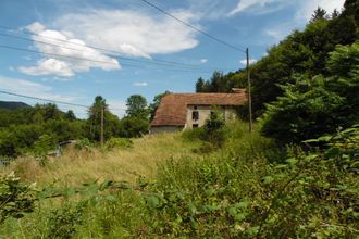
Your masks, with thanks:
[(152, 104), (148, 104), (140, 95), (128, 97), (123, 118), (110, 112), (101, 96), (97, 96), (88, 109), (87, 120), (77, 118), (71, 110), (63, 112), (53, 103), (16, 110), (0, 109), (0, 156), (32, 154), (37, 146), (42, 144), (54, 150), (59, 142), (67, 140), (87, 139), (97, 143), (101, 135), (102, 109), (106, 140), (140, 137), (148, 133), (161, 96), (157, 96)]

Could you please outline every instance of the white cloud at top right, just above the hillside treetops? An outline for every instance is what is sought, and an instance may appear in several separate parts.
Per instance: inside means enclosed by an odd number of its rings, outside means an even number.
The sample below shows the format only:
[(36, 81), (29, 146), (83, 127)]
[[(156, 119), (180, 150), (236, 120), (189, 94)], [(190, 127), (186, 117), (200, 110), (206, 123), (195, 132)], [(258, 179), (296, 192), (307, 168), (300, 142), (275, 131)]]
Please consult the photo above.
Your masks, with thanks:
[(344, 2), (345, 0), (304, 0), (296, 14), (296, 18), (299, 21), (309, 21), (318, 7), (321, 7), (327, 13), (332, 13), (334, 9), (339, 11)]

